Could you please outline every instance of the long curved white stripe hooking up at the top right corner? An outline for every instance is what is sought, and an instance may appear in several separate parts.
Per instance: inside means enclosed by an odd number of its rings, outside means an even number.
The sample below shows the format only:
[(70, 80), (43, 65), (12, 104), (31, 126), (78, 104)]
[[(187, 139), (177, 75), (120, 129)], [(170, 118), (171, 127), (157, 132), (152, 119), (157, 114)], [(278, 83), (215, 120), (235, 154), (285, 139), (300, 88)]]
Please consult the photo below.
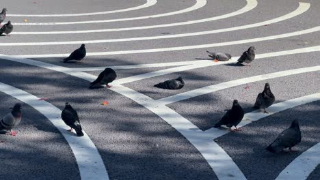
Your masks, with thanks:
[(111, 40), (84, 40), (84, 41), (69, 41), (69, 42), (11, 42), (11, 43), (0, 43), (0, 46), (44, 46), (44, 45), (58, 45), (58, 44), (93, 44), (93, 43), (106, 43), (106, 42), (129, 42), (129, 41), (141, 41), (141, 40), (159, 40), (167, 38), (176, 38), (176, 37), (188, 37), (194, 35), (206, 35), (212, 33), (220, 33), (227, 31), (236, 31), (239, 29), (249, 29), (252, 27), (259, 27), (263, 25), (269, 25), (271, 23), (277, 23), (282, 20), (293, 18), (299, 14), (306, 12), (310, 8), (310, 3), (299, 3), (297, 10), (286, 14), (284, 16), (274, 18), (271, 20), (266, 20), (261, 23), (254, 23), (251, 25), (244, 25), (239, 27), (231, 27), (226, 29), (216, 29), (212, 31), (200, 31), (196, 33), (181, 33), (174, 35), (159, 35), (159, 36), (149, 36), (149, 37), (133, 37), (133, 38), (121, 38), (121, 39), (111, 39)]

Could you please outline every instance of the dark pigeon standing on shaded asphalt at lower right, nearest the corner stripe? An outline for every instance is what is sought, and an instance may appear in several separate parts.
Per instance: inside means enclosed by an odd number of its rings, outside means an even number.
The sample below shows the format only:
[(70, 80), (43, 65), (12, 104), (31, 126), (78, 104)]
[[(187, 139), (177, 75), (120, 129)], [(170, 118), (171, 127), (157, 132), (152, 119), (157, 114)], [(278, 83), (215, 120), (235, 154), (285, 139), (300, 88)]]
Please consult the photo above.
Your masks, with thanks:
[(283, 149), (289, 147), (290, 151), (293, 151), (292, 147), (301, 142), (301, 131), (299, 127), (299, 121), (295, 119), (292, 121), (290, 127), (276, 138), (266, 149), (271, 153), (280, 153)]

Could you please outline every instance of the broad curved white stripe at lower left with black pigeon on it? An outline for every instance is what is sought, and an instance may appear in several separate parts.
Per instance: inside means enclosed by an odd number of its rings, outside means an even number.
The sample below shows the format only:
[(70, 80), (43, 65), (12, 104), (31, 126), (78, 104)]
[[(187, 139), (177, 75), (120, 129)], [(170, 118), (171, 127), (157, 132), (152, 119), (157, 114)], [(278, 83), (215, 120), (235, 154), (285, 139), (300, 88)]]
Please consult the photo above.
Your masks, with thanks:
[(75, 155), (82, 180), (109, 179), (107, 170), (105, 170), (105, 164), (103, 164), (103, 160), (92, 140), (85, 132), (83, 132), (85, 134), (83, 137), (71, 136), (67, 131), (68, 127), (60, 118), (62, 111), (59, 110), (59, 108), (53, 106), (49, 102), (39, 101), (39, 97), (31, 95), (21, 89), (17, 89), (16, 87), (5, 85), (2, 82), (0, 82), (0, 91), (29, 104), (29, 106), (38, 110), (42, 115), (49, 119), (55, 127), (57, 127), (59, 132), (66, 138), (66, 141)]

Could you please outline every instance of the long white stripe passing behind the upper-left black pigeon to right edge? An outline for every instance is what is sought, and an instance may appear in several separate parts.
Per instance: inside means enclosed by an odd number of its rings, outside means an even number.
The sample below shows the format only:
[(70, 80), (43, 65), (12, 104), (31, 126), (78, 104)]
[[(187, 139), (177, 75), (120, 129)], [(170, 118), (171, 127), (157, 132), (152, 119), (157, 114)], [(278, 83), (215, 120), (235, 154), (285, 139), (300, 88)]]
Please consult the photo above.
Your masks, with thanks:
[[(109, 52), (87, 52), (87, 56), (102, 56), (102, 55), (128, 55), (128, 54), (137, 54), (137, 53), (149, 53), (149, 52), (167, 52), (174, 50), (189, 50), (189, 49), (198, 49), (198, 48), (211, 48), (217, 46), (230, 46), (235, 44), (246, 44), (250, 42), (262, 42), (267, 40), (277, 40), (284, 37), (292, 37), (295, 35), (303, 35), (306, 33), (314, 33), (320, 31), (320, 26), (312, 27), (310, 29), (305, 29), (302, 31), (295, 31), (293, 33), (284, 33), (280, 35), (271, 35), (266, 37), (257, 37), (254, 39), (248, 40), (238, 40), (232, 42), (219, 42), (215, 44), (200, 44), (195, 46), (178, 46), (172, 48), (153, 48), (153, 49), (142, 49), (142, 50), (120, 50), (120, 51), (109, 51)], [(25, 57), (25, 58), (44, 58), (44, 57), (68, 57), (70, 54), (51, 54), (51, 55), (14, 55), (16, 57)]]

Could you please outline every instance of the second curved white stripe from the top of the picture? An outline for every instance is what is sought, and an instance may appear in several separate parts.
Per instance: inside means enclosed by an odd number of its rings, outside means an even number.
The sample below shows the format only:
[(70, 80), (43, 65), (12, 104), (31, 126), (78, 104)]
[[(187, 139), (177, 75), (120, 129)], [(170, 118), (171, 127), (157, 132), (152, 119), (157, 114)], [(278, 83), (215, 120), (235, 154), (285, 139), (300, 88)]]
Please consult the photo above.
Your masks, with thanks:
[(155, 14), (151, 16), (139, 16), (134, 18), (118, 18), (118, 19), (108, 19), (108, 20), (86, 20), (86, 21), (73, 21), (73, 22), (56, 22), (56, 23), (12, 23), (12, 25), (21, 25), (21, 26), (30, 26), (30, 25), (76, 25), (76, 24), (89, 24), (89, 23), (109, 23), (109, 22), (119, 22), (119, 21), (126, 21), (126, 20), (140, 20), (140, 19), (147, 19), (147, 18), (159, 18), (164, 16), (172, 16), (176, 14), (183, 14), (186, 12), (191, 12), (194, 10), (198, 10), (201, 7), (206, 5), (206, 0), (196, 0), (196, 4), (191, 7), (188, 7), (184, 10), (178, 10), (175, 12), (168, 12), (164, 14)]

